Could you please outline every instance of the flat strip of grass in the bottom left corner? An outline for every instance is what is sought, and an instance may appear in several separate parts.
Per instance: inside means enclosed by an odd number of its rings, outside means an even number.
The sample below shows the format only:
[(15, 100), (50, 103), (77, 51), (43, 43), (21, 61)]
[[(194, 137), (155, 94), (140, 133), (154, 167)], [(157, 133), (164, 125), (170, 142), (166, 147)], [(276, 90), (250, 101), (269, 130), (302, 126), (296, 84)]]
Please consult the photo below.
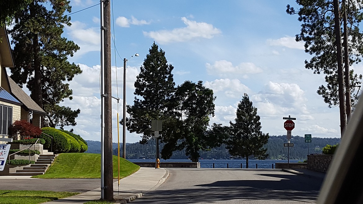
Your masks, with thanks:
[(0, 204), (38, 204), (74, 196), (76, 192), (0, 190)]

